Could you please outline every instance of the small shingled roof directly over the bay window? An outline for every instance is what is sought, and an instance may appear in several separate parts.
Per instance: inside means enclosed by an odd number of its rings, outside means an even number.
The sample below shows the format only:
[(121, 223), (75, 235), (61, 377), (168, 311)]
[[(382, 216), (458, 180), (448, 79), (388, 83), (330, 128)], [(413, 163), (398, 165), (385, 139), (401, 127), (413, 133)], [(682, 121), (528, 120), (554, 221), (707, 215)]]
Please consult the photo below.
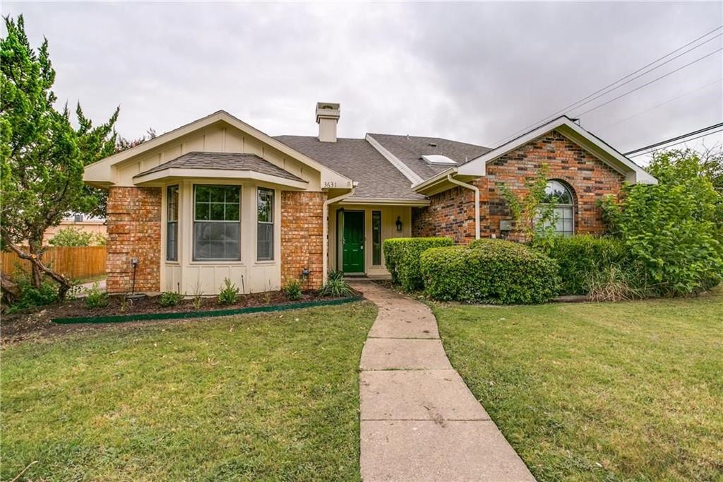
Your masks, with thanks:
[(163, 171), (171, 168), (180, 169), (228, 169), (231, 171), (254, 171), (261, 174), (283, 177), (292, 181), (307, 182), (281, 167), (271, 164), (269, 161), (260, 158), (255, 154), (241, 154), (230, 152), (189, 152), (182, 156), (171, 159), (171, 161), (158, 164), (145, 172), (136, 174), (134, 177), (144, 176), (152, 172)]

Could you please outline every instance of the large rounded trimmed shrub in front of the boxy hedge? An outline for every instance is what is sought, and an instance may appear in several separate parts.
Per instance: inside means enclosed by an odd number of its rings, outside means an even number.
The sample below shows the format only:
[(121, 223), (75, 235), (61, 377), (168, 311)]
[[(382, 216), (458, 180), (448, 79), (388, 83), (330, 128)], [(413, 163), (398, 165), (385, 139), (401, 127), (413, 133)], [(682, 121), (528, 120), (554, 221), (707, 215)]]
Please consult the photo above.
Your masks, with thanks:
[(496, 305), (544, 303), (557, 295), (557, 263), (526, 245), (477, 240), (422, 253), (427, 294)]

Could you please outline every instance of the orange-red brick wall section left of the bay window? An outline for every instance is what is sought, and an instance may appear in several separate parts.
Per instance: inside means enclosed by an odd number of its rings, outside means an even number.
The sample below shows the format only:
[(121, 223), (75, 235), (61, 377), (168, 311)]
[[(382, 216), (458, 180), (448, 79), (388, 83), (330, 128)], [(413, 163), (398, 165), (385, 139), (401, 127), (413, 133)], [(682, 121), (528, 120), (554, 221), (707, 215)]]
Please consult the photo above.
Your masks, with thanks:
[(111, 187), (108, 192), (109, 293), (161, 291), (161, 188)]

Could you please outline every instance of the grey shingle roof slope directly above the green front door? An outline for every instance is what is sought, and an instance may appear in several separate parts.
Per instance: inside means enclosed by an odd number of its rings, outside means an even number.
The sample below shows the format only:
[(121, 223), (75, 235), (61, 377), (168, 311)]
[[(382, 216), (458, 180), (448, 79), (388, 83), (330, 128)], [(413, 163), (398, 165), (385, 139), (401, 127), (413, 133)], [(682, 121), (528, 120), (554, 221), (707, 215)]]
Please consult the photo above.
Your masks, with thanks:
[(358, 181), (354, 198), (426, 199), (412, 192), (411, 181), (364, 139), (340, 138), (335, 143), (301, 135), (280, 135), (275, 139)]

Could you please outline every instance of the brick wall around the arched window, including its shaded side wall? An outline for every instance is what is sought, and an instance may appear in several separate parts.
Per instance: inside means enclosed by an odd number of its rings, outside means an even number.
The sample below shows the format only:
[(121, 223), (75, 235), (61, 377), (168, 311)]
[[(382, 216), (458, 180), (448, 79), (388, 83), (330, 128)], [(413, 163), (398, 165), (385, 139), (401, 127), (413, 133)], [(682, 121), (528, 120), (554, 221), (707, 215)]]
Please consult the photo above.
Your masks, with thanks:
[[(542, 164), (549, 168), (549, 179), (562, 179), (575, 196), (575, 232), (601, 234), (605, 226), (596, 201), (605, 194), (620, 191), (625, 177), (576, 143), (552, 131), (487, 164), (487, 175), (471, 184), (479, 187), (480, 234), (500, 237), (500, 221), (512, 219), (507, 203), (497, 190), (504, 182), (522, 193), (526, 179), (534, 179)], [(412, 211), (413, 236), (448, 236), (455, 242), (474, 240), (474, 193), (454, 187), (433, 195), (430, 205)], [(512, 238), (521, 234), (513, 232)]]

